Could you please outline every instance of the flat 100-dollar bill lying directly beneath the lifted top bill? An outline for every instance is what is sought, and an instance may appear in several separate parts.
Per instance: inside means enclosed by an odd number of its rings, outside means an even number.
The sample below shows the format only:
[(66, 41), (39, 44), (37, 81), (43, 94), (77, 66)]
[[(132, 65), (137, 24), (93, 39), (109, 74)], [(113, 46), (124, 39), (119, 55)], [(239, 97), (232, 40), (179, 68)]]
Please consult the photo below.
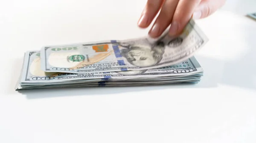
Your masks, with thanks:
[(25, 84), (51, 84), (68, 82), (93, 82), (104, 81), (104, 79), (147, 79), (159, 77), (189, 76), (203, 72), (195, 57), (169, 67), (161, 67), (151, 70), (121, 71), (103, 73), (47, 73), (41, 70), (41, 58), (39, 51), (28, 51), (24, 57), (23, 71), (20, 83)]

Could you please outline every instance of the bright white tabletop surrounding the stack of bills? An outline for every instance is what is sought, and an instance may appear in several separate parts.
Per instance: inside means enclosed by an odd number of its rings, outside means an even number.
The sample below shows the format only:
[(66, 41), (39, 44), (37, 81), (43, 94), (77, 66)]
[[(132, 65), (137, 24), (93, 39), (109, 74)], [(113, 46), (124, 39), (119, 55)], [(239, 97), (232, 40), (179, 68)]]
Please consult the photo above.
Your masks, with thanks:
[[(23, 53), (145, 36), (145, 0), (10, 0), (1, 6), (0, 143), (255, 143), (256, 21), (218, 11), (199, 84), (14, 90)], [(255, 11), (256, 12), (256, 11)]]

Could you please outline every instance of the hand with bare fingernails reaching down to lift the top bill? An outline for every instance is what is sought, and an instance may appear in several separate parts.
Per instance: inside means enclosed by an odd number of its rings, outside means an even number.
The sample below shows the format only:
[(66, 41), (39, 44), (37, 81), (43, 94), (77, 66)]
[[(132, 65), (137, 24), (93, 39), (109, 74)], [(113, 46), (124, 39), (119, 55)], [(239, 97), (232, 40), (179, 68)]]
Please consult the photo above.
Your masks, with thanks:
[(224, 3), (225, 0), (148, 0), (138, 25), (140, 28), (147, 28), (161, 9), (148, 34), (156, 38), (171, 25), (169, 34), (175, 36), (183, 31), (192, 17), (208, 17)]

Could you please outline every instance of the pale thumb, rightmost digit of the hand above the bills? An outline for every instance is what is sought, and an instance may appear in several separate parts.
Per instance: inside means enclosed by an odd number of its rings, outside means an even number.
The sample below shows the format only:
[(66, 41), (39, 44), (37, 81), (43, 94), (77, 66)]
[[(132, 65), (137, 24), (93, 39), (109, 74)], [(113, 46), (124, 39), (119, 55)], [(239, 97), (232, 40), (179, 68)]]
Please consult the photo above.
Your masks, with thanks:
[(224, 5), (225, 0), (202, 0), (201, 3), (195, 8), (192, 16), (193, 19), (201, 19), (210, 16), (221, 6)]

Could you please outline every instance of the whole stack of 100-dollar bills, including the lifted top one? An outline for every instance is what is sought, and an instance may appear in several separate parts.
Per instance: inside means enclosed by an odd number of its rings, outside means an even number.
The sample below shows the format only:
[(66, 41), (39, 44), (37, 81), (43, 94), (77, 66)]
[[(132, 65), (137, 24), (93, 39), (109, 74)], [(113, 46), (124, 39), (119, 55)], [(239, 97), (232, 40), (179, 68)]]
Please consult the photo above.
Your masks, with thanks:
[(208, 42), (193, 20), (179, 36), (44, 46), (24, 54), (15, 90), (195, 84), (203, 69), (194, 54)]

